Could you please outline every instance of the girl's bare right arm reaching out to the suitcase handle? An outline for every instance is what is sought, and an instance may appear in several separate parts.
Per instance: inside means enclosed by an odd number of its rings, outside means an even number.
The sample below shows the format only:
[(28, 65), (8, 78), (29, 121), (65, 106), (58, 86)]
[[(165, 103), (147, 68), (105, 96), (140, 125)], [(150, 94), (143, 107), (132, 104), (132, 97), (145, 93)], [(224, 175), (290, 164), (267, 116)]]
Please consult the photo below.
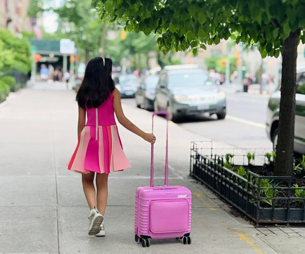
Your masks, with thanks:
[(137, 126), (131, 123), (131, 121), (129, 121), (124, 115), (121, 105), (120, 92), (119, 90), (117, 90), (117, 88), (115, 88), (113, 91), (113, 109), (119, 123), (122, 124), (128, 131), (137, 134), (138, 136), (150, 143), (154, 143), (156, 141), (156, 137), (152, 133), (145, 133), (144, 131), (140, 130)]

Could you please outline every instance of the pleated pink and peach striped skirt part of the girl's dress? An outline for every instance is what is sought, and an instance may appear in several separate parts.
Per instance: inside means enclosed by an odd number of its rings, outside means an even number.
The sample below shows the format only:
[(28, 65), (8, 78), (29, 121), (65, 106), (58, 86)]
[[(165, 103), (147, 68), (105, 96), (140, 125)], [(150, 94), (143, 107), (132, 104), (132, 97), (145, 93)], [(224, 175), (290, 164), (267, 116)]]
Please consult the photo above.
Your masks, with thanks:
[(68, 164), (69, 170), (83, 174), (109, 174), (130, 167), (116, 125), (85, 126)]

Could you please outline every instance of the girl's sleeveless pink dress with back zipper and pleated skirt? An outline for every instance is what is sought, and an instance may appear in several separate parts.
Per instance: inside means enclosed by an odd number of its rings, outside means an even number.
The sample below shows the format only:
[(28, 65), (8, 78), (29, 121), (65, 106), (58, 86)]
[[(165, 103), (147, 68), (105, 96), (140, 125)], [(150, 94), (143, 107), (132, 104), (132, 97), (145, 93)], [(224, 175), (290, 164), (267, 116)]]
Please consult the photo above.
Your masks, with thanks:
[(68, 169), (109, 174), (130, 168), (114, 119), (113, 93), (98, 108), (88, 109), (87, 123), (78, 138)]

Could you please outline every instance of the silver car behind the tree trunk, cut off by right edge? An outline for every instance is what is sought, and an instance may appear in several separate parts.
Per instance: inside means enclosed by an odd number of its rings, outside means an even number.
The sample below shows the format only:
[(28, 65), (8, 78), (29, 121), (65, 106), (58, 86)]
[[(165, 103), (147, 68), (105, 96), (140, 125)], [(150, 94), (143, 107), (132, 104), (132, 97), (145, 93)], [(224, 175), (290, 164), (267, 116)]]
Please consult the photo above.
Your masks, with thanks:
[[(294, 151), (305, 154), (305, 68), (297, 69), (296, 74), (296, 115), (294, 126)], [(275, 150), (278, 143), (278, 119), (280, 110), (280, 87), (268, 103), (266, 131)]]

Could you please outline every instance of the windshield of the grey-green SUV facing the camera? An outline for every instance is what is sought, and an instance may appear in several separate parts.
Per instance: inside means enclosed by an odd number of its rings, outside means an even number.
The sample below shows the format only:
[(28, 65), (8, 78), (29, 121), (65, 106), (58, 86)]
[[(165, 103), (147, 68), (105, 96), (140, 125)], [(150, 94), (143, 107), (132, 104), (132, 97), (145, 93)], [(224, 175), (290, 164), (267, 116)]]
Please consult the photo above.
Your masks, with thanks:
[(168, 88), (210, 86), (214, 82), (205, 72), (179, 72), (168, 75)]

